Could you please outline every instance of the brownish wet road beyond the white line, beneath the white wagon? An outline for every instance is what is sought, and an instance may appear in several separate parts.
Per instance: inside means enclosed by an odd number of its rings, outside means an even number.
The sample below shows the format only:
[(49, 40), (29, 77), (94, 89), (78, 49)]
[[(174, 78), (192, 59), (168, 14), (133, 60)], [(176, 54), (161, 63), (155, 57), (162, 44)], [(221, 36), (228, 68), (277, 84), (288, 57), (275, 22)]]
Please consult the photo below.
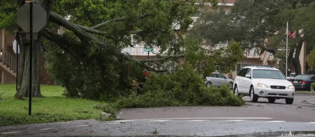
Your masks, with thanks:
[(264, 120), (315, 122), (315, 105), (305, 101), (315, 99), (315, 96), (295, 96), (293, 104), (285, 104), (284, 99), (277, 99), (275, 103), (268, 103), (268, 100), (264, 98), (259, 98), (257, 103), (249, 102), (248, 96), (243, 99), (248, 105), (122, 109), (120, 119), (272, 118)]

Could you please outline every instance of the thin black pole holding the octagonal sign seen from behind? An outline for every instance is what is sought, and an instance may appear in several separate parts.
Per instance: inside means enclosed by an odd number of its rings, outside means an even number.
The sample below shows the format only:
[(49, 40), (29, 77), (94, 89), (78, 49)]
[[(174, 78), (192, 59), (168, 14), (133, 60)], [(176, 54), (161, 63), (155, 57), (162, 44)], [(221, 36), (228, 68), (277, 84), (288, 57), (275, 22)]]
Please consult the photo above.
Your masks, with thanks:
[(33, 2), (30, 3), (30, 91), (28, 102), (28, 114), (31, 115), (32, 111), (32, 47), (33, 47)]

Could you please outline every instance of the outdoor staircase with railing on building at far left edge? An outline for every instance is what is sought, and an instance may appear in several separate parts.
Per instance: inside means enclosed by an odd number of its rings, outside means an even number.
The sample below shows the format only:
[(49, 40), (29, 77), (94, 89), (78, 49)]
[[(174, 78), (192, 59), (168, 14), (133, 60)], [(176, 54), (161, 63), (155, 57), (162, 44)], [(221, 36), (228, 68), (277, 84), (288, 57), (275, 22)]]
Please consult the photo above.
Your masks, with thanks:
[(0, 70), (16, 78), (16, 58), (0, 48)]

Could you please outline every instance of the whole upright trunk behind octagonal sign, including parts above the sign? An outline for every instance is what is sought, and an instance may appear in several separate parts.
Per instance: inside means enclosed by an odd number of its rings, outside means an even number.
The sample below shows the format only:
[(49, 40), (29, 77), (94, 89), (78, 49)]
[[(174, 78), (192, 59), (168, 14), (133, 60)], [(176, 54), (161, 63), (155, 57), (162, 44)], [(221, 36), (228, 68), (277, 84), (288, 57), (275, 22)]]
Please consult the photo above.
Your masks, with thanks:
[[(25, 0), (16, 0), (18, 9), (20, 9)], [(39, 2), (39, 0), (34, 0), (34, 2)], [(40, 5), (46, 11), (48, 21), (50, 11), (52, 9), (54, 1), (53, 0), (42, 0)], [(19, 74), (18, 77), (18, 89), (14, 95), (16, 99), (22, 99), (23, 97), (29, 97), (29, 78), (30, 78), (30, 44), (26, 40), (25, 34), (22, 33), (23, 30), (18, 27), (16, 41), (20, 44), (20, 56), (19, 56)], [(40, 93), (40, 82), (39, 82), (39, 53), (41, 46), (41, 32), (37, 33), (37, 40), (33, 40), (32, 45), (32, 97), (43, 97)]]

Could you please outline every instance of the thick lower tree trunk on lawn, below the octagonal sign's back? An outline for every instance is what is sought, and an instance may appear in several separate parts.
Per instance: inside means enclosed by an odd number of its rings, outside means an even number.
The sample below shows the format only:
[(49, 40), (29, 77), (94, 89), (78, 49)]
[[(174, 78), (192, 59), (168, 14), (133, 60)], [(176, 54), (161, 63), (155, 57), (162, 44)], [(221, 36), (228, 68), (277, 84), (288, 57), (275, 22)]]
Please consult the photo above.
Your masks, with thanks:
[[(20, 37), (21, 38), (21, 37)], [(25, 38), (25, 37), (24, 37)], [(23, 41), (23, 40), (20, 40)], [(33, 40), (32, 46), (32, 97), (43, 97), (40, 92), (39, 81), (39, 53), (40, 39)], [(14, 95), (16, 99), (29, 97), (30, 78), (30, 46), (29, 43), (21, 42), (19, 55), (18, 89)]]

